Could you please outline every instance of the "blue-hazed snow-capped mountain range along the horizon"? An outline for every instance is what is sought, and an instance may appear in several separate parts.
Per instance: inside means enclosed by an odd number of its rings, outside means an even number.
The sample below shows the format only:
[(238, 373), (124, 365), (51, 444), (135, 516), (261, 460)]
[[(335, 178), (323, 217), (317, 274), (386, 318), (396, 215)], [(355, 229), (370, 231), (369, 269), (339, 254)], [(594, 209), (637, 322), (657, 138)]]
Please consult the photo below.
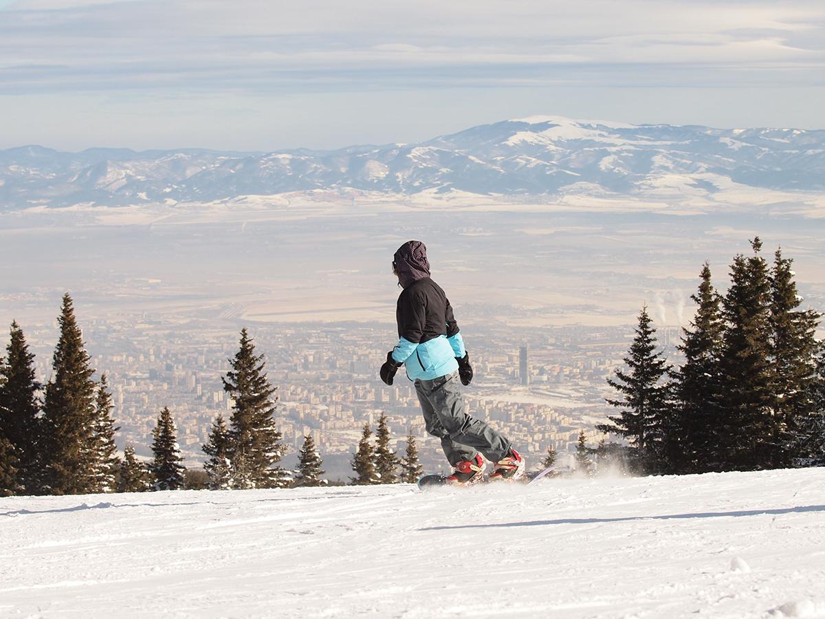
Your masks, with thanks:
[(233, 153), (182, 149), (0, 151), (0, 204), (214, 201), (313, 189), (644, 195), (662, 183), (825, 189), (825, 130), (626, 125), (532, 116), (421, 144)]

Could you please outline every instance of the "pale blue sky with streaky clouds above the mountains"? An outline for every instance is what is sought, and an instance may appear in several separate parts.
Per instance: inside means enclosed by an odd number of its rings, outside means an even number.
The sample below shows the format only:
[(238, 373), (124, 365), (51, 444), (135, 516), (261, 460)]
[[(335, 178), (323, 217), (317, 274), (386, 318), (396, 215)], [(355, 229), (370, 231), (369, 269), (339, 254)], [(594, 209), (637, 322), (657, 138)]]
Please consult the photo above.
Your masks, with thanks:
[(825, 128), (822, 0), (0, 0), (0, 149), (335, 149), (531, 115)]

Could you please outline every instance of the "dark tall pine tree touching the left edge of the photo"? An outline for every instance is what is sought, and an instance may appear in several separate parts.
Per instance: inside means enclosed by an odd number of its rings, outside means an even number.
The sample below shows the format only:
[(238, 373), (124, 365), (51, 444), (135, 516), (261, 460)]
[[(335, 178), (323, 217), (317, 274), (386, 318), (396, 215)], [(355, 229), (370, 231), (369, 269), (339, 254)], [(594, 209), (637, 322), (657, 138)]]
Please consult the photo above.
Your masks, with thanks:
[(35, 356), (29, 352), (26, 338), (12, 322), (11, 340), (6, 361), (0, 363), (0, 435), (10, 445), (9, 457), (16, 461), (16, 487), (21, 494), (40, 490), (40, 401), (42, 385), (35, 380)]

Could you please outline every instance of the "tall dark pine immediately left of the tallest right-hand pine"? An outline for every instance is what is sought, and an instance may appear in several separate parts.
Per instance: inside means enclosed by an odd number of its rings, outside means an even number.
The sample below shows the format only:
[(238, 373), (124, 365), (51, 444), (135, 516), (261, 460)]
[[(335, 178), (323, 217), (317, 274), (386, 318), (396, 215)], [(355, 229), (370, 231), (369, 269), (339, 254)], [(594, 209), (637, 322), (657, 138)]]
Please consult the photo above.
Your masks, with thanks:
[(698, 306), (692, 330), (682, 330), (679, 350), (682, 366), (672, 373), (674, 405), (662, 440), (669, 472), (703, 473), (716, 470), (719, 437), (724, 422), (721, 407), (719, 358), (722, 354), (724, 320), (722, 297), (710, 281), (707, 262), (700, 273), (699, 289), (691, 299)]

